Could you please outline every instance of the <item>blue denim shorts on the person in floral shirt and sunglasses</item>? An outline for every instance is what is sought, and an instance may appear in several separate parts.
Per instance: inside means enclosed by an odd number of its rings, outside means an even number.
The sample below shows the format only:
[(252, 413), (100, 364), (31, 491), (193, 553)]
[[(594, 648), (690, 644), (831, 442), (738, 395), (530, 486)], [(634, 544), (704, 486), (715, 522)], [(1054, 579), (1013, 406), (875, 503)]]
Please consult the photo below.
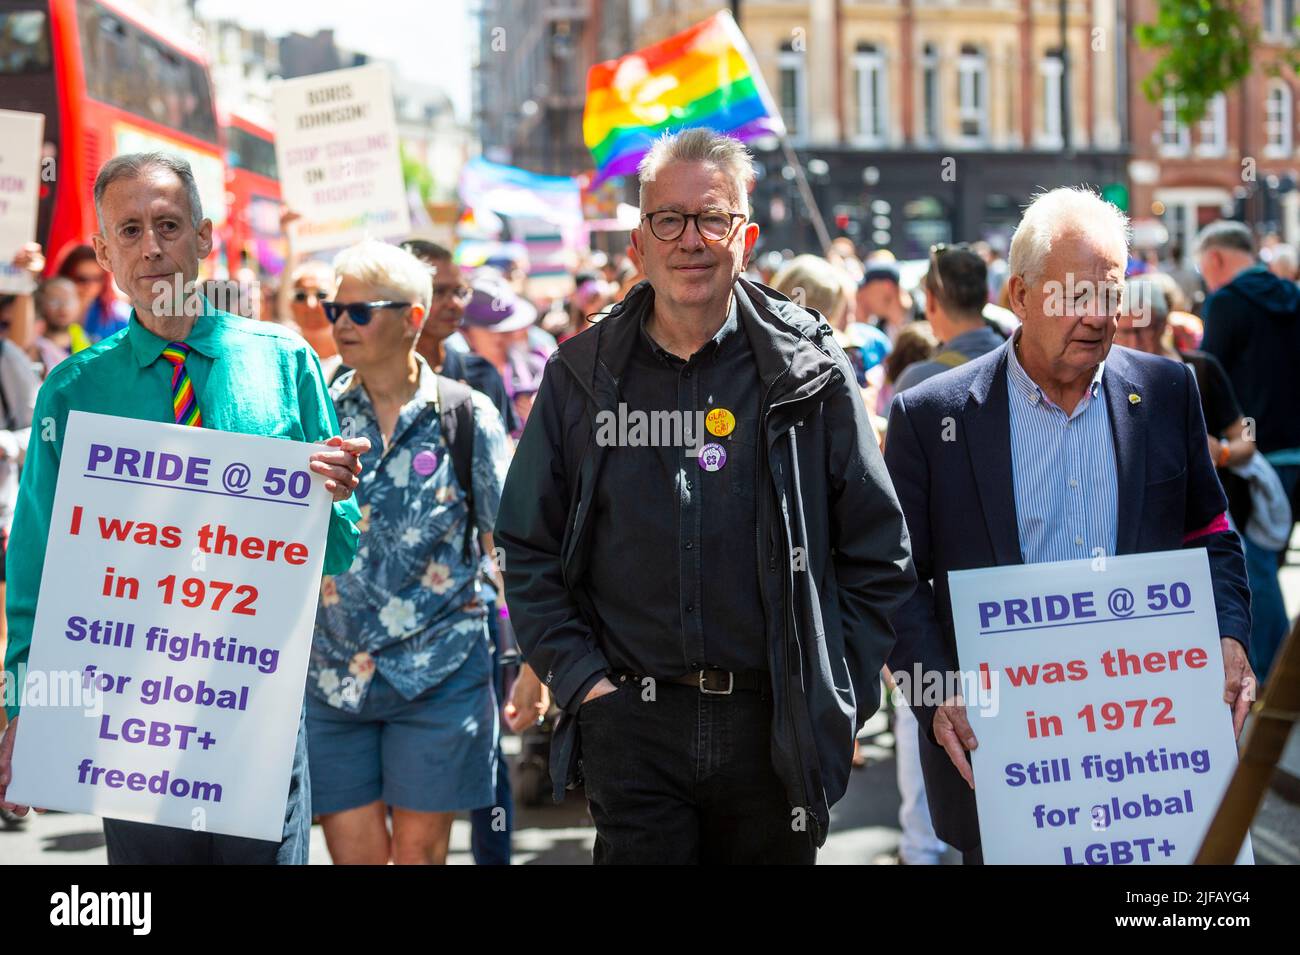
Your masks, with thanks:
[(491, 656), (481, 642), (459, 669), (413, 700), (378, 670), (359, 713), (307, 694), (312, 812), (377, 799), (415, 812), (491, 806), (498, 733)]

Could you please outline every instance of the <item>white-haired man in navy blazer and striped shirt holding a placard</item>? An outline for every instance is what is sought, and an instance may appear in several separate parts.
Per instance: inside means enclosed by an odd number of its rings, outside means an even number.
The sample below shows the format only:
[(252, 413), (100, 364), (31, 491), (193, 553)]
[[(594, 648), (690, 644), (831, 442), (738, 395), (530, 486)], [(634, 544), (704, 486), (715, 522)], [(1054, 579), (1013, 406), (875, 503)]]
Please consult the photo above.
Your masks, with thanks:
[[(1127, 246), (1127, 220), (1098, 196), (1072, 188), (1039, 196), (1011, 239), (1010, 299), (1020, 329), (1001, 348), (894, 399), (885, 461), (920, 585), (893, 617), (898, 644), (889, 667), (957, 670), (950, 570), (1204, 547), (1223, 699), (1240, 733), (1254, 683), (1242, 547), (1225, 516), (1192, 373), (1110, 347)], [(980, 861), (966, 756), (978, 739), (965, 708), (911, 703), (935, 830), (967, 861)]]

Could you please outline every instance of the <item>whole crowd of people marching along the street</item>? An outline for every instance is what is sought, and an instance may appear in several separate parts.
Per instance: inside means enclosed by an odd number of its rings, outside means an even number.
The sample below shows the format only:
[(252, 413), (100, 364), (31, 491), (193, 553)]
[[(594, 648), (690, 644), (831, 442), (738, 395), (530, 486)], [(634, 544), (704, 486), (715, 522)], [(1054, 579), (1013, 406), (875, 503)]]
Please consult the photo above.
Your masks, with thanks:
[[(507, 863), (502, 733), (547, 719), (555, 793), (585, 785), (598, 863), (812, 861), (881, 681), (956, 669), (948, 569), (1204, 546), (1238, 730), (1290, 630), (1278, 570), (1300, 503), (1300, 287), (1294, 251), (1261, 249), (1243, 223), (1206, 227), (1191, 272), (1178, 251), (1132, 252), (1124, 216), (1096, 195), (1054, 190), (1005, 256), (935, 246), (909, 287), (888, 252), (848, 238), (826, 255), (758, 253), (748, 152), (693, 130), (646, 156), (628, 249), (578, 265), (563, 300), (530, 298), (526, 262), (468, 268), (419, 238), (302, 260), (286, 210), (274, 287), (242, 318), (209, 301), (186, 324), (155, 314), (139, 277), (165, 266), (194, 282), (211, 223), (183, 161), (127, 160), (96, 181), (95, 244), (49, 277), (25, 248), (16, 265), (35, 291), (0, 299), (5, 669), (26, 655), (48, 526), (42, 408), (172, 420), (169, 403), (95, 392), (91, 372), (190, 343), (205, 426), (247, 430), (218, 424), (228, 399), (204, 363), (307, 351), (317, 361), (276, 399), (294, 420), (277, 433), (354, 427), (321, 463), (333, 554), (285, 841), (200, 845), (108, 820), (110, 861), (302, 861), (316, 817), (337, 863), (441, 863), (471, 812), (476, 859)], [(143, 239), (118, 230), (125, 216)], [(1053, 311), (1052, 283), (1072, 275), (1117, 304)], [(1170, 361), (1186, 378), (1161, 374)], [(1167, 412), (1160, 429), (1139, 439), (1108, 411), (1115, 381)], [(620, 404), (707, 413), (708, 443), (607, 447), (593, 418)], [(814, 411), (820, 424), (796, 429)], [(941, 440), (945, 416), (967, 438)], [(1152, 474), (1130, 453), (1157, 443), (1182, 469)], [(1067, 474), (1080, 455), (1086, 473)], [(1124, 503), (1135, 492), (1145, 513)], [(793, 596), (786, 544), (812, 564)], [(897, 860), (937, 863), (952, 846), (979, 861), (965, 711), (896, 699), (893, 719)]]

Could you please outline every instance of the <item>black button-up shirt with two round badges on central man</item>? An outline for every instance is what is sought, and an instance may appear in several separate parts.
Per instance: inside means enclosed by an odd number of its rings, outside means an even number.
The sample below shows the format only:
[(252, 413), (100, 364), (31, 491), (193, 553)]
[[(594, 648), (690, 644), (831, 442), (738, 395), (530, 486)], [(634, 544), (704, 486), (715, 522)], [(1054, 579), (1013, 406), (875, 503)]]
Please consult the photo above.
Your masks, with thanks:
[[(760, 399), (734, 301), (688, 361), (660, 348), (642, 320), (621, 382), (627, 426), (607, 451), (592, 511), (589, 592), (615, 669), (658, 678), (768, 669), (755, 504), (767, 485), (758, 476)], [(711, 409), (732, 413), (728, 434), (701, 433)], [(638, 435), (637, 421), (654, 422), (653, 412), (676, 412), (658, 420), (680, 422), (679, 435), (664, 435), (662, 424)], [(692, 443), (705, 453), (688, 453), (688, 433), (699, 434)], [(655, 437), (679, 440), (647, 444)], [(720, 457), (710, 444), (725, 453), (716, 470), (701, 466)]]

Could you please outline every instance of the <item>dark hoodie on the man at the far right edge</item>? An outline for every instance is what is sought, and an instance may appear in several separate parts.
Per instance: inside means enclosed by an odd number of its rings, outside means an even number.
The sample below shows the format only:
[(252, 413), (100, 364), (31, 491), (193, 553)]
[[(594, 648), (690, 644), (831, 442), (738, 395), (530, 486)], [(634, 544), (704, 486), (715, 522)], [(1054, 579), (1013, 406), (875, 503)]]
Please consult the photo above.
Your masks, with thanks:
[(1205, 300), (1201, 348), (1222, 363), (1264, 453), (1300, 448), (1300, 286), (1252, 266)]

